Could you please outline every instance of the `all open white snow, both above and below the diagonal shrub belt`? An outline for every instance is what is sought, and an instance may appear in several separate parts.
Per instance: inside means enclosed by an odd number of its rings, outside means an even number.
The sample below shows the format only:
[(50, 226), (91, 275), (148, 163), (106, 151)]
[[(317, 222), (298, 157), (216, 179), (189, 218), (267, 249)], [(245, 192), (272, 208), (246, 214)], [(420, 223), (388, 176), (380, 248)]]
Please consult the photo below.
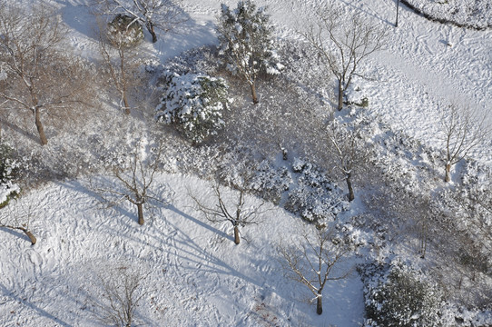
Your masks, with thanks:
[[(363, 84), (371, 115), (437, 148), (442, 108), (448, 104), (477, 108), (492, 123), (492, 30), (430, 22), (404, 5), (395, 28), (393, 0), (256, 1), (269, 6), (278, 38), (296, 40), (302, 39), (297, 31), (312, 20), (317, 5), (327, 2), (388, 30), (386, 48), (363, 67), (371, 77)], [(94, 58), (94, 20), (85, 0), (52, 3), (70, 27), (75, 53)], [(218, 0), (183, 0), (190, 19), (177, 33), (161, 35), (156, 44), (146, 35), (142, 54), (163, 62), (184, 50), (216, 44), (220, 5)], [(327, 93), (332, 87), (327, 86)], [(492, 164), (491, 140), (472, 156)], [(356, 272), (325, 288), (320, 316), (309, 302), (309, 290), (283, 277), (275, 247), (299, 228), (299, 217), (268, 204), (263, 223), (242, 229), (242, 242), (235, 245), (230, 224), (210, 223), (193, 209), (190, 191), (213, 205), (209, 182), (192, 175), (159, 174), (155, 183), (169, 183), (175, 195), (171, 205), (155, 208), (143, 226), (136, 223), (130, 204), (102, 209), (85, 177), (26, 193), (19, 202), (34, 205), (30, 228), (37, 243), (31, 245), (23, 233), (0, 230), (0, 326), (103, 325), (94, 313), (103, 299), (98, 274), (120, 263), (146, 274), (146, 296), (136, 319), (147, 326), (363, 323), (362, 282)]]

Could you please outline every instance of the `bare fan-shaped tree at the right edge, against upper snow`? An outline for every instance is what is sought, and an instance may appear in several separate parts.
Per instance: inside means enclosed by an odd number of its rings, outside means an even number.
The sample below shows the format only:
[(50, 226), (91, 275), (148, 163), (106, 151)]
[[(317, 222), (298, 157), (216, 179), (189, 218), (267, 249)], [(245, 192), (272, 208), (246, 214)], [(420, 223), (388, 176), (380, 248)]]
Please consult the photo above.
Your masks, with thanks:
[(445, 108), (441, 119), (442, 141), (446, 149), (445, 182), (451, 181), (451, 167), (490, 135), (491, 127), (485, 118), (470, 107), (450, 104)]

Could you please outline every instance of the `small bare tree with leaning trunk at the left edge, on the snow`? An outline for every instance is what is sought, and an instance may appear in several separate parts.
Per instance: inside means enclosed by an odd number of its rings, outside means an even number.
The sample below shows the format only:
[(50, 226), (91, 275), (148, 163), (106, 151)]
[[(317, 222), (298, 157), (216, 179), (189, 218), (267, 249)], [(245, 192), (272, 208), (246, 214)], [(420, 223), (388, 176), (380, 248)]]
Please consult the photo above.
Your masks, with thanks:
[(11, 199), (10, 203), (0, 211), (0, 228), (22, 231), (34, 245), (36, 238), (29, 229), (33, 220), (33, 204), (21, 203), (17, 199)]

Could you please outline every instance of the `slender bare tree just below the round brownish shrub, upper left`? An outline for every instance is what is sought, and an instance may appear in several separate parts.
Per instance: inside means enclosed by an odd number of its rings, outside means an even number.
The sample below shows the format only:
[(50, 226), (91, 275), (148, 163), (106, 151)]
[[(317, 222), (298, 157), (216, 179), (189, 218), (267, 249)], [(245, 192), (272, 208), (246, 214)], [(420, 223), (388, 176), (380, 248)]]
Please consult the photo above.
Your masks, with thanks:
[[(122, 37), (107, 37), (106, 26), (99, 25), (99, 51), (103, 57), (103, 67), (109, 75), (114, 88), (120, 94), (120, 108), (130, 114), (129, 93), (139, 84), (135, 51)], [(127, 26), (128, 27), (128, 26)]]

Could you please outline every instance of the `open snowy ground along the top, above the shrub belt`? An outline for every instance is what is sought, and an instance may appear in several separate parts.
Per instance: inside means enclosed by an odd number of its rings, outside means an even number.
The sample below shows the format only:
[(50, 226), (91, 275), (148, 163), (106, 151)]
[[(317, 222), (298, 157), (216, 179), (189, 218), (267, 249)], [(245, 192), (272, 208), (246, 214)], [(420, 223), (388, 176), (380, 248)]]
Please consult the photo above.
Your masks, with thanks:
[[(223, 3), (236, 5), (236, 1), (231, 0)], [(255, 3), (268, 6), (278, 38), (303, 41), (298, 31), (313, 21), (317, 8), (325, 2), (259, 0)], [(71, 41), (74, 48), (91, 57), (97, 51), (91, 27), (93, 15), (84, 3), (65, 1), (58, 5), (64, 21), (73, 28)], [(156, 44), (147, 40), (142, 45), (143, 54), (163, 62), (193, 47), (217, 44), (214, 24), (220, 5), (221, 2), (214, 0), (203, 0), (199, 4), (183, 0), (182, 9), (189, 15), (189, 20), (175, 34), (164, 35)], [(400, 7), (399, 27), (396, 28), (393, 0), (346, 0), (334, 2), (334, 5), (347, 15), (362, 15), (369, 24), (379, 25), (388, 33), (384, 50), (363, 63), (363, 70), (370, 79), (363, 83), (372, 114), (392, 128), (404, 130), (409, 136), (436, 147), (440, 144), (436, 135), (439, 134), (442, 109), (448, 104), (476, 109), (492, 124), (489, 116), (492, 29), (474, 31), (431, 22), (405, 5)], [(313, 66), (312, 69), (321, 68)], [(334, 79), (327, 81), (325, 87), (331, 94)], [(492, 163), (490, 142), (483, 145), (473, 156), (484, 163)]]

